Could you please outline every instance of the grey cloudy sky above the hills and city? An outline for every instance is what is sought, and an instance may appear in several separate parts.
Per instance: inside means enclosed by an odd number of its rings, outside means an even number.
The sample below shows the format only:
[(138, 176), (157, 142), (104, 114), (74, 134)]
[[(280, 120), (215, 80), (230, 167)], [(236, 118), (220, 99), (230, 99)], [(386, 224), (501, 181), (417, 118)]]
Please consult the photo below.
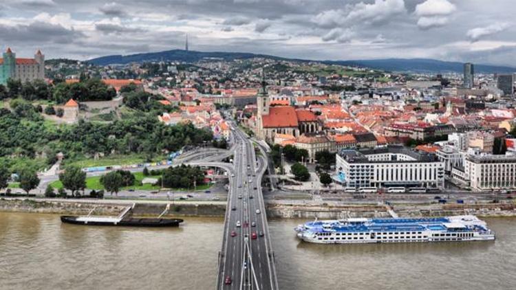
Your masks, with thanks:
[(47, 58), (184, 47), (516, 66), (514, 0), (0, 0), (0, 49)]

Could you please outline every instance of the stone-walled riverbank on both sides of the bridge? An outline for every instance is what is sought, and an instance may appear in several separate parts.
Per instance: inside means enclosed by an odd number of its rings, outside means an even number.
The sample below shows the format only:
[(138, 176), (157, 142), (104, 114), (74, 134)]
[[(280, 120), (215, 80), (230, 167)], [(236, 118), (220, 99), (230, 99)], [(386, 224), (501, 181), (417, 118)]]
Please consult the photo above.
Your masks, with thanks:
[[(136, 216), (158, 216), (170, 204), (165, 217), (206, 216), (224, 217), (225, 201), (131, 201), (114, 199), (0, 199), (0, 212), (35, 212), (45, 214), (116, 216), (125, 207), (136, 203)], [(296, 205), (267, 203), (267, 215), (272, 219), (346, 219), (348, 217), (389, 217), (394, 210), (398, 216), (451, 216), (474, 214), (476, 216), (516, 216), (514, 203), (477, 204), (396, 204), (387, 205), (347, 204), (347, 205)]]

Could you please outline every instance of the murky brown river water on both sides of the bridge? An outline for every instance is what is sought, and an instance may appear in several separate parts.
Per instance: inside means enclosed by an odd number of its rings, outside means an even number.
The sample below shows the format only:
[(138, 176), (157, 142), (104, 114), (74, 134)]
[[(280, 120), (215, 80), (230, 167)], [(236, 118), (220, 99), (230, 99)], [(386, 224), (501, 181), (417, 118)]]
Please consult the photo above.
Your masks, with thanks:
[[(486, 219), (493, 242), (314, 245), (299, 220), (272, 220), (279, 286), (515, 289), (516, 219)], [(62, 224), (0, 212), (0, 289), (214, 289), (222, 219), (144, 229)]]

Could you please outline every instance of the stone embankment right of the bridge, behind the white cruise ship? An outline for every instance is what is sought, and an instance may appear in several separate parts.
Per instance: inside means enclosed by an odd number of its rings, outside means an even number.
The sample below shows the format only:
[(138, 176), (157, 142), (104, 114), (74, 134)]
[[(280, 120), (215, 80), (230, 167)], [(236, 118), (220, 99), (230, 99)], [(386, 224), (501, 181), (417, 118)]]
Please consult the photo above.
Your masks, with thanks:
[[(516, 216), (515, 204), (468, 205), (395, 205), (398, 216)], [(269, 204), (267, 214), (280, 219), (346, 219), (348, 217), (390, 217), (389, 208), (383, 205), (288, 205)]]

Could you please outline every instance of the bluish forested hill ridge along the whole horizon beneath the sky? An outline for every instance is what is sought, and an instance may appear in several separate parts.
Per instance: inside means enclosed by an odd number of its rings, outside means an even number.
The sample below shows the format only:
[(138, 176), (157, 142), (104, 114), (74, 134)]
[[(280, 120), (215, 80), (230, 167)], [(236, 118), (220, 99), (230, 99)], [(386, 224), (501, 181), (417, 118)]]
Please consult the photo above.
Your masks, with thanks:
[[(127, 56), (113, 55), (102, 56), (88, 60), (89, 63), (95, 65), (126, 65), (128, 63), (144, 63), (151, 61), (184, 61), (186, 63), (194, 63), (198, 60), (219, 58), (222, 60), (248, 59), (248, 58), (270, 58), (276, 60), (295, 60), (308, 62), (312, 60), (303, 60), (297, 58), (281, 58), (279, 56), (270, 56), (266, 54), (250, 54), (245, 52), (194, 52), (183, 49), (173, 49), (164, 52), (149, 52), (144, 54), (130, 54)], [(433, 60), (427, 58), (387, 58), (376, 60), (323, 60), (321, 63), (334, 65), (352, 65), (358, 67), (370, 67), (372, 69), (381, 69), (384, 71), (412, 71), (412, 72), (462, 72), (463, 63), (449, 62), (442, 60)], [(476, 65), (475, 72), (480, 74), (493, 73), (510, 73), (516, 72), (514, 67), (503, 67), (495, 65)]]

